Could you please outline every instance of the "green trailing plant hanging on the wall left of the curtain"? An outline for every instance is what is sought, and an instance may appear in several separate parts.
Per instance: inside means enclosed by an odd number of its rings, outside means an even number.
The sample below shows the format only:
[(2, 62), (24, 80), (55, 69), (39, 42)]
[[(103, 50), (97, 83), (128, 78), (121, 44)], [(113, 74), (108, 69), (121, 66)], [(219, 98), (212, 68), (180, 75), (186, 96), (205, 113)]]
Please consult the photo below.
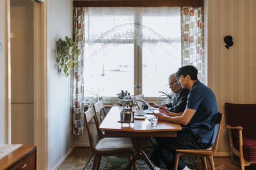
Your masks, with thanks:
[(68, 76), (72, 68), (77, 68), (76, 58), (78, 49), (76, 43), (71, 38), (65, 36), (65, 39), (59, 39), (56, 42), (56, 55), (58, 71), (64, 76)]

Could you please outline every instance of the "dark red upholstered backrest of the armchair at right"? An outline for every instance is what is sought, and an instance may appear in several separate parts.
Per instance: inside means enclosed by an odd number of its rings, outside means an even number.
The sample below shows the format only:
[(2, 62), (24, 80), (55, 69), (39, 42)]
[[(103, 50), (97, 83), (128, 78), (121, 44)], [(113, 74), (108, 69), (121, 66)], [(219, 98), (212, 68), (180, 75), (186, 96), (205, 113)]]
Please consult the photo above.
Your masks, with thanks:
[[(225, 103), (227, 124), (243, 127), (243, 138), (256, 138), (256, 104)], [(232, 139), (238, 139), (238, 131), (232, 129)]]

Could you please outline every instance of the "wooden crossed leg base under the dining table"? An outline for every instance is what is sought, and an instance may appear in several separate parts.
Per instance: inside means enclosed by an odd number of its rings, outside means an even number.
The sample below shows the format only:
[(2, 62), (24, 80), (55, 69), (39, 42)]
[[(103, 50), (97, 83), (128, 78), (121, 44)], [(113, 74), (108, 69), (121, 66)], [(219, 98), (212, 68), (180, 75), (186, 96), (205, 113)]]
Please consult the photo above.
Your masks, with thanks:
[(152, 163), (150, 162), (150, 160), (148, 159), (147, 155), (144, 152), (144, 150), (148, 146), (148, 141), (150, 137), (132, 137), (131, 139), (132, 139), (134, 150), (136, 150), (136, 153), (132, 158), (131, 162), (129, 162), (126, 169), (127, 170), (131, 169), (131, 166), (136, 162), (136, 160), (143, 159), (151, 169), (155, 170), (155, 167), (152, 165)]

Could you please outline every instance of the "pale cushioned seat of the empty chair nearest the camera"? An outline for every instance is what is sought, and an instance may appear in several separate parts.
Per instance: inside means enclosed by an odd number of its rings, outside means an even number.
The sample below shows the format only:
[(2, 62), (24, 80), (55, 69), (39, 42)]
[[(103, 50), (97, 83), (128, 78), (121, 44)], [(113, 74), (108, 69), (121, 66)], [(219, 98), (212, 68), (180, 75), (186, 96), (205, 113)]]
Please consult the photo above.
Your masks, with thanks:
[(95, 146), (97, 150), (131, 149), (131, 138), (102, 138)]

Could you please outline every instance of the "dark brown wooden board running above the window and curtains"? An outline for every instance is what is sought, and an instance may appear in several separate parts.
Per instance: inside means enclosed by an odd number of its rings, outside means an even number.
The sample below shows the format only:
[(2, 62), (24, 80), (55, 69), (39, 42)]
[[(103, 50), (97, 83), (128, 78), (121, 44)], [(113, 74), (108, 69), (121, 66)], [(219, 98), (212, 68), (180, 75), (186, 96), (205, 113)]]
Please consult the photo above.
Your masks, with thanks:
[(73, 1), (74, 7), (159, 7), (159, 6), (204, 6), (204, 0), (106, 0)]

